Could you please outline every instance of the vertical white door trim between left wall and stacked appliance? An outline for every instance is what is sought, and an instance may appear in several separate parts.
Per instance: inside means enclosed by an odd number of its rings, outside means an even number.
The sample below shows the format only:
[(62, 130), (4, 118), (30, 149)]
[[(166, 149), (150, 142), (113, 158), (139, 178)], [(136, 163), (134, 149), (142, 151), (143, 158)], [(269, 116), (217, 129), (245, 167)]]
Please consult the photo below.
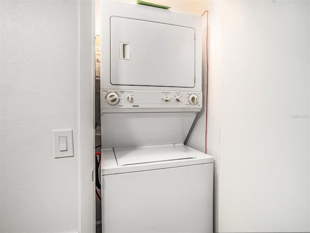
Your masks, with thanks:
[(79, 0), (79, 19), (79, 232), (94, 233), (94, 0)]

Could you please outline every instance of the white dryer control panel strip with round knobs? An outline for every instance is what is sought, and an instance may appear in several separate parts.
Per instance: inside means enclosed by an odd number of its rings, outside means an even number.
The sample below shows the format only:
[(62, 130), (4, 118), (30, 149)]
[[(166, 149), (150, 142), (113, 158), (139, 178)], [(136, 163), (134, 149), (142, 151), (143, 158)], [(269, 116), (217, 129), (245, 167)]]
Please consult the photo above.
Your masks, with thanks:
[(101, 113), (199, 112), (202, 92), (101, 89)]

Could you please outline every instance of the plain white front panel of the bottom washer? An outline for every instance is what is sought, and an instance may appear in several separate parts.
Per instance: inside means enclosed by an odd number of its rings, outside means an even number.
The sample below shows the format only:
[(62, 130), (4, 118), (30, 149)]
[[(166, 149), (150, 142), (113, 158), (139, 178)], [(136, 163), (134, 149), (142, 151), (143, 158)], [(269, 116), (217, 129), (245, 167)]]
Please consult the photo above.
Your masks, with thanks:
[(213, 232), (212, 177), (213, 163), (102, 176), (102, 233)]

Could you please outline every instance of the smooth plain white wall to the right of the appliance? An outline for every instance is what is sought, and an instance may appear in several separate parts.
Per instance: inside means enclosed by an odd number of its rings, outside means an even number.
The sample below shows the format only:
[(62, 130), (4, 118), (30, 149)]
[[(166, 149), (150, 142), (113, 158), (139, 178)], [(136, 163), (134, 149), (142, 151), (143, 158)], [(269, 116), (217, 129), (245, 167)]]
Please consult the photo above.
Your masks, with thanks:
[(222, 2), (218, 232), (310, 232), (309, 4)]

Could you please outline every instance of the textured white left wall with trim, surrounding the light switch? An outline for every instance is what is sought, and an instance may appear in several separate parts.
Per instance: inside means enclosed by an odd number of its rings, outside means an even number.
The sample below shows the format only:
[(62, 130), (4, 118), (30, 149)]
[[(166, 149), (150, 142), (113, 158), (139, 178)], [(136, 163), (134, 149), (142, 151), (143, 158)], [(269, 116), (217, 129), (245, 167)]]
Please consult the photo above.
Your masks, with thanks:
[[(3, 0), (0, 13), (0, 232), (92, 232), (92, 1)], [(74, 157), (54, 159), (61, 129)]]

